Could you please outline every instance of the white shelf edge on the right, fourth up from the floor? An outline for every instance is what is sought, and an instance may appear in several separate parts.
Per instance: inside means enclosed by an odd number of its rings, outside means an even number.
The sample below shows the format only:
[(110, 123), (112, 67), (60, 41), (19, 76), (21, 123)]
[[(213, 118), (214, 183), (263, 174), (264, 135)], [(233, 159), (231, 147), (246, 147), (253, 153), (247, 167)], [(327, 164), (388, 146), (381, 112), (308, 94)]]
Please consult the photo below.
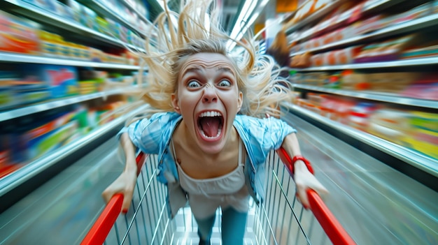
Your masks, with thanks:
[(376, 40), (379, 38), (386, 38), (386, 37), (395, 36), (398, 34), (406, 34), (410, 31), (416, 31), (418, 29), (424, 29), (427, 27), (435, 26), (435, 25), (438, 25), (438, 13), (435, 13), (435, 14), (429, 15), (429, 16), (425, 16), (425, 17), (421, 17), (418, 20), (411, 20), (411, 21), (404, 22), (401, 24), (395, 24), (395, 25), (392, 25), (390, 27), (379, 29), (378, 31), (374, 31), (370, 34), (355, 36), (353, 38), (347, 38), (347, 39), (341, 40), (339, 42), (323, 45), (321, 47), (315, 47), (315, 48), (310, 49), (310, 50), (295, 52), (295, 53), (290, 54), (290, 57), (294, 57), (295, 55), (298, 55), (298, 54), (304, 54), (306, 52), (313, 54), (313, 53), (317, 53), (317, 52), (323, 52), (325, 50), (334, 50), (334, 48), (357, 45), (359, 43), (366, 43), (366, 42)]

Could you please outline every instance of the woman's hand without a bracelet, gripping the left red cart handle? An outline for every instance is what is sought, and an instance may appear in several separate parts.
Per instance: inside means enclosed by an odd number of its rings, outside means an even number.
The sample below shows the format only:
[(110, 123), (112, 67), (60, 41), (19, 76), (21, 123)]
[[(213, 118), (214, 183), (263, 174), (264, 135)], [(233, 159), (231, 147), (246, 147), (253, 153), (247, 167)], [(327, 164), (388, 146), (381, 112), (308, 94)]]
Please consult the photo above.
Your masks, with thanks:
[(132, 202), (132, 195), (137, 180), (136, 171), (123, 171), (122, 174), (109, 185), (102, 193), (105, 202), (108, 203), (113, 195), (123, 194), (122, 212), (127, 213)]

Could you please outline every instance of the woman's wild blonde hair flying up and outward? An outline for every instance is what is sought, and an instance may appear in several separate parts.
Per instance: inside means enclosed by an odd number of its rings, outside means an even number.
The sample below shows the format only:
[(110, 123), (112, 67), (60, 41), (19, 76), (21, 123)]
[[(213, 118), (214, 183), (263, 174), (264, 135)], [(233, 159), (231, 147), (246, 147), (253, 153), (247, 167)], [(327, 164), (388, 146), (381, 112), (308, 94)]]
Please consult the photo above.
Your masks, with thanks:
[[(148, 67), (146, 91), (141, 98), (151, 106), (149, 113), (174, 111), (171, 94), (178, 89), (181, 66), (190, 55), (199, 52), (214, 52), (228, 57), (236, 70), (237, 85), (243, 93), (241, 114), (253, 117), (278, 114), (278, 103), (290, 101), (288, 81), (278, 77), (279, 67), (274, 60), (260, 54), (251, 38), (232, 40), (220, 28), (218, 20), (219, 12), (213, 1), (187, 1), (179, 15), (165, 8), (157, 17), (154, 22), (157, 27), (156, 42), (147, 37), (146, 53), (139, 54), (143, 60), (139, 75), (145, 66)], [(227, 51), (229, 40), (243, 47), (243, 56), (233, 57)], [(139, 77), (138, 81), (141, 80), (142, 77)], [(272, 104), (276, 107), (269, 107)]]

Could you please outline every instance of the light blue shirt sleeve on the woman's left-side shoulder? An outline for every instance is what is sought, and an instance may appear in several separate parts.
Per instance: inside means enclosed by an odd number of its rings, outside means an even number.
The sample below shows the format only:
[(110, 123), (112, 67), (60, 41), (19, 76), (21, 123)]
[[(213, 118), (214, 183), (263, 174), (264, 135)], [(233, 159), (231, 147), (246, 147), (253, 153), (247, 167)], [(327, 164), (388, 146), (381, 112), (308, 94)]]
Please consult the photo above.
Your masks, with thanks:
[(166, 122), (162, 117), (154, 114), (149, 119), (139, 119), (125, 126), (119, 131), (117, 138), (120, 140), (122, 133), (128, 133), (135, 147), (146, 154), (158, 154), (164, 125)]

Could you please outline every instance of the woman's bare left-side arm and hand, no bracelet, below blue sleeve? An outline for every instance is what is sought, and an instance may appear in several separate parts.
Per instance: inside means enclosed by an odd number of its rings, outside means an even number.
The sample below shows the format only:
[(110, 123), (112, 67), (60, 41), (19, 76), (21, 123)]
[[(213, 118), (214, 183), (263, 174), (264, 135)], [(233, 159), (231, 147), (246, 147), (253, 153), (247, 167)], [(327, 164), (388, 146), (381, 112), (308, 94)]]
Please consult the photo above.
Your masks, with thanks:
[(127, 133), (122, 133), (120, 137), (120, 144), (123, 151), (125, 151), (125, 169), (123, 170), (122, 174), (120, 174), (120, 176), (105, 189), (105, 191), (102, 193), (102, 197), (104, 198), (105, 202), (108, 202), (114, 194), (122, 193), (124, 196), (122, 212), (126, 213), (129, 209), (129, 205), (132, 201), (132, 195), (134, 193), (137, 179), (137, 164), (135, 147)]

